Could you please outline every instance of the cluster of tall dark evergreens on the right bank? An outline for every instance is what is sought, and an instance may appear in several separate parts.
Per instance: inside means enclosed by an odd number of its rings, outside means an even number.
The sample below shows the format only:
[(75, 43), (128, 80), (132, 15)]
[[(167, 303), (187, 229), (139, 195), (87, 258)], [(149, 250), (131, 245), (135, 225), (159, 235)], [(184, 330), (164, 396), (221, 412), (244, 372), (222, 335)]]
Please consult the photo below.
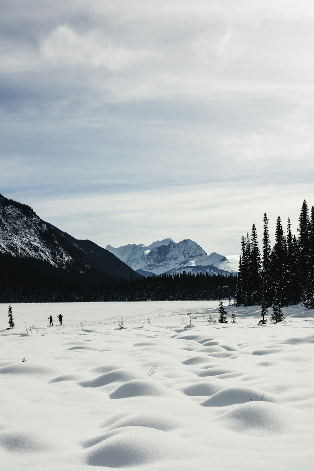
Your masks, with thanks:
[(305, 200), (297, 230), (298, 235), (293, 235), (288, 218), (285, 234), (282, 219), (278, 216), (272, 247), (265, 213), (262, 250), (259, 249), (255, 224), (250, 235), (242, 236), (235, 290), (238, 306), (260, 305), (263, 300), (268, 308), (303, 301), (308, 309), (314, 309), (314, 207), (309, 211)]

